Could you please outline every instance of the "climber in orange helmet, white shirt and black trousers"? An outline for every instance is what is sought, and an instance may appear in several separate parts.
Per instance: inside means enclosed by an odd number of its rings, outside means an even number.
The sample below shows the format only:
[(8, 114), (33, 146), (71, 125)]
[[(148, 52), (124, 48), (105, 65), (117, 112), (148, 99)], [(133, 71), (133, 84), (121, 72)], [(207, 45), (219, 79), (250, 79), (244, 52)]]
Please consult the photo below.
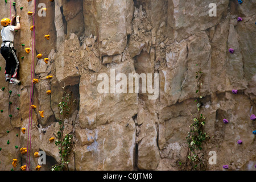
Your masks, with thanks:
[[(15, 18), (16, 26), (14, 26)], [(5, 80), (10, 81), (11, 84), (19, 84), (20, 82), (17, 79), (19, 61), (13, 47), (14, 31), (20, 30), (19, 18), (19, 16), (11, 15), (11, 20), (9, 18), (1, 20), (1, 25), (3, 26), (1, 30), (3, 41), (1, 44), (1, 54), (6, 61)]]

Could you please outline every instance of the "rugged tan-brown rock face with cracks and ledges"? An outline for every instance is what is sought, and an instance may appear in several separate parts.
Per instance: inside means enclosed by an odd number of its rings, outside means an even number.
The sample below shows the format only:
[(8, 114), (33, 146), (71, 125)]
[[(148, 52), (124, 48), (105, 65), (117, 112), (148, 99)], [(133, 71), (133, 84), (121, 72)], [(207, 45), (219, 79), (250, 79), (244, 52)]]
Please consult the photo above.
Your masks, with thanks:
[[(35, 55), (43, 56), (35, 59), (39, 82), (33, 86), (36, 109), (29, 117), (32, 54), (20, 44), (32, 48), (32, 16), (27, 12), (33, 10), (33, 2), (16, 2), (16, 13), (22, 16), (22, 30), (15, 32), (14, 40), (21, 85), (5, 82), (5, 60), (0, 56), (0, 88), (5, 87), (0, 90), (1, 170), (13, 168), (14, 158), (14, 170), (26, 164), (27, 156), (19, 149), (27, 147), (29, 122), (30, 170), (38, 165), (36, 151), (47, 155), (41, 170), (59, 162), (59, 149), (49, 138), (59, 131), (57, 105), (69, 91), (76, 100), (64, 122), (64, 134), (72, 133), (74, 142), (69, 170), (180, 170), (191, 114), (196, 113), (196, 64), (203, 71), (201, 110), (210, 136), (204, 155), (209, 159), (210, 151), (217, 154), (217, 164), (208, 169), (221, 170), (226, 164), (231, 170), (256, 169), (256, 123), (250, 119), (256, 113), (255, 1), (217, 1), (217, 16), (212, 17), (211, 1), (40, 1), (47, 14), (36, 16)], [(1, 19), (10, 16), (8, 3), (1, 1), (0, 9)], [(49, 40), (44, 38), (47, 34)], [(118, 77), (121, 73), (127, 82)], [(129, 84), (130, 73), (158, 73), (159, 97), (149, 100), (151, 93), (142, 93), (143, 88), (128, 92), (135, 89)], [(107, 85), (108, 93), (99, 92)], [(127, 92), (110, 92), (123, 86)], [(44, 118), (39, 115), (42, 110)], [(240, 139), (242, 144), (237, 143)]]

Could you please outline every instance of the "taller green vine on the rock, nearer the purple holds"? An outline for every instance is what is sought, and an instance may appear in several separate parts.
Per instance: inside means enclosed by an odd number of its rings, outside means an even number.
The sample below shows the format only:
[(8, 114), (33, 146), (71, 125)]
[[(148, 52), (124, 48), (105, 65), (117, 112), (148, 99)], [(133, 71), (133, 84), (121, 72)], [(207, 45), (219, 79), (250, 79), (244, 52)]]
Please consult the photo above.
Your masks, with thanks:
[[(197, 106), (197, 112), (193, 115), (193, 123), (189, 126), (190, 130), (186, 137), (188, 145), (186, 162), (183, 166), (183, 169), (188, 166), (191, 167), (191, 170), (206, 170), (207, 163), (204, 160), (203, 144), (206, 140), (209, 139), (209, 136), (204, 131), (204, 125), (206, 117), (201, 111), (201, 86), (203, 85), (202, 76), (203, 72), (201, 71), (200, 64), (196, 64), (199, 67), (196, 72), (195, 78), (197, 79), (197, 90), (196, 94), (199, 95), (195, 100)], [(181, 164), (181, 163), (180, 163)]]

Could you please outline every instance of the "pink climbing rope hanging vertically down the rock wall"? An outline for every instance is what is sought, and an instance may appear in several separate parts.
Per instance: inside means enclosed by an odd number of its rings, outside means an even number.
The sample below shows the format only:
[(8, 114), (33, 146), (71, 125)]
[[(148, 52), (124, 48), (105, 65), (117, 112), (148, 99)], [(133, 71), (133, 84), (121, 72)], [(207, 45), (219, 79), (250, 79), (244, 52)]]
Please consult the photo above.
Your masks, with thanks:
[[(35, 10), (36, 10), (36, 3), (34, 0), (34, 13), (33, 13), (33, 23), (32, 26), (35, 26)], [(30, 115), (28, 117), (28, 136), (27, 136), (27, 149), (28, 149), (28, 144), (29, 144), (29, 153), (27, 152), (27, 159), (26, 159), (26, 166), (27, 166), (27, 171), (30, 169), (30, 151), (31, 151), (31, 137), (32, 137), (32, 111), (33, 109), (31, 108), (31, 105), (33, 104), (33, 90), (34, 90), (34, 85), (32, 84), (32, 80), (34, 79), (34, 69), (35, 69), (35, 64), (34, 64), (34, 56), (35, 56), (35, 28), (32, 31), (32, 60), (31, 60), (31, 75), (30, 75)], [(30, 119), (31, 118), (31, 119)], [(31, 122), (30, 122), (31, 120)], [(31, 125), (31, 126), (30, 126)]]

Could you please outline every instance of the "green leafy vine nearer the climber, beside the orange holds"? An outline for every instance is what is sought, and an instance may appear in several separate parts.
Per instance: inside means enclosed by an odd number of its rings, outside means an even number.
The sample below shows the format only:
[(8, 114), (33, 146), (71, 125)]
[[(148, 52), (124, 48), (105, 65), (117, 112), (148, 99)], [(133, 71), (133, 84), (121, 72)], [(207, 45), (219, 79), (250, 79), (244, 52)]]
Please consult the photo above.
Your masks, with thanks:
[(60, 129), (55, 135), (55, 145), (59, 147), (60, 163), (53, 165), (51, 167), (52, 171), (63, 171), (65, 168), (68, 168), (68, 163), (70, 161), (69, 156), (73, 152), (73, 135), (69, 133), (63, 136), (64, 121), (68, 118), (68, 114), (71, 111), (71, 93), (64, 92), (64, 96), (58, 104), (58, 107), (60, 109)]

